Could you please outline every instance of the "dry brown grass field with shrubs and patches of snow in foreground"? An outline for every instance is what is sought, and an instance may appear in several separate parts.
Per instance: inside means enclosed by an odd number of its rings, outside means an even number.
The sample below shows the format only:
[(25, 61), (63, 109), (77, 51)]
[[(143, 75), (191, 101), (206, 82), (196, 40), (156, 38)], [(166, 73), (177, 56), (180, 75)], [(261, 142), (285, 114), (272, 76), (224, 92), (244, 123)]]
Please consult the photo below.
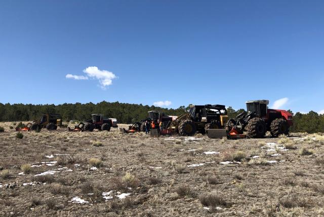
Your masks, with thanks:
[[(324, 136), (151, 138), (0, 123), (0, 216), (324, 216)], [(124, 125), (123, 127), (126, 127)]]

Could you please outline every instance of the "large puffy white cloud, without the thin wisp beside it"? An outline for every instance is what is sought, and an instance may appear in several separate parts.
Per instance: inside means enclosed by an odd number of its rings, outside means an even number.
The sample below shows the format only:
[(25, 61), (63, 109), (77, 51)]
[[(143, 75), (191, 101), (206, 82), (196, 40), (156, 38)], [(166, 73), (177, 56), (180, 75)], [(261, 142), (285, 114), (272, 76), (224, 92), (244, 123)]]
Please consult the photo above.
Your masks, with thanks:
[(112, 80), (117, 78), (111, 71), (100, 70), (97, 66), (90, 66), (83, 70), (90, 78), (98, 79), (101, 88), (112, 85)]

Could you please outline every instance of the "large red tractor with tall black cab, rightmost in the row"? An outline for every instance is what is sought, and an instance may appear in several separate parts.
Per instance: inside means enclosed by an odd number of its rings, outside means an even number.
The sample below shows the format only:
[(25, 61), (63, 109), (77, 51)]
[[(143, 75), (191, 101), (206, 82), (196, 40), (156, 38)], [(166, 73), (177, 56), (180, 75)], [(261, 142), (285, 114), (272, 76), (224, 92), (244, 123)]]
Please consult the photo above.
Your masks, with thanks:
[(292, 114), (285, 110), (269, 109), (269, 100), (252, 100), (246, 104), (248, 112), (228, 120), (226, 130), (229, 137), (242, 138), (247, 135), (250, 138), (262, 138), (266, 131), (270, 131), (273, 137), (289, 133), (289, 127), (293, 125)]

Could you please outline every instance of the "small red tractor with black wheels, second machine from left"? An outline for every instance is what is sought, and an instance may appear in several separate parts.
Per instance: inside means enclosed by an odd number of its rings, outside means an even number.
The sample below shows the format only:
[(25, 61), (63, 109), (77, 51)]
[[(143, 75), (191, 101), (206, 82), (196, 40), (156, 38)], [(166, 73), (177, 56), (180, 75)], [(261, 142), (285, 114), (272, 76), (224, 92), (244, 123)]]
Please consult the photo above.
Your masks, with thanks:
[(109, 118), (105, 118), (102, 114), (92, 114), (91, 117), (91, 120), (85, 121), (84, 131), (93, 131), (94, 129), (110, 131), (112, 121)]

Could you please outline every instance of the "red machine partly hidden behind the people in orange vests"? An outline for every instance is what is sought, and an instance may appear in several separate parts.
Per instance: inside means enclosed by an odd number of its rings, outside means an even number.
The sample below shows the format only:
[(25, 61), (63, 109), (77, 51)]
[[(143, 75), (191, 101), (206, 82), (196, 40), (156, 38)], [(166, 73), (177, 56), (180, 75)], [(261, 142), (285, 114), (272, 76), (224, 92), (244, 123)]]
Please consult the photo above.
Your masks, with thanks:
[(149, 111), (147, 118), (142, 119), (139, 122), (135, 122), (134, 124), (129, 126), (128, 130), (123, 129), (123, 132), (125, 133), (134, 133), (140, 131), (145, 132), (145, 122), (148, 121), (149, 125), (151, 125), (152, 121), (157, 122), (157, 120), (163, 122), (163, 126), (165, 127), (172, 122), (173, 118), (159, 111)]

